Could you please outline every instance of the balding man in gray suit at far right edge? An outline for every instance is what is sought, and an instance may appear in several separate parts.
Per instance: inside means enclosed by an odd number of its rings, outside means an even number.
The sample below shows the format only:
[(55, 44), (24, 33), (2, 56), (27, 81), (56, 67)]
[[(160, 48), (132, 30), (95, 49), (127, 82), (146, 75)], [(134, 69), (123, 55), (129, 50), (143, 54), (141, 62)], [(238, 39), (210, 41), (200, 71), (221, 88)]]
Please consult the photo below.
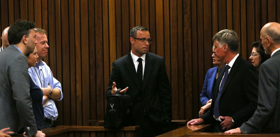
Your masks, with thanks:
[(260, 38), (271, 58), (260, 65), (257, 110), (240, 128), (225, 133), (280, 132), (280, 24), (265, 24)]

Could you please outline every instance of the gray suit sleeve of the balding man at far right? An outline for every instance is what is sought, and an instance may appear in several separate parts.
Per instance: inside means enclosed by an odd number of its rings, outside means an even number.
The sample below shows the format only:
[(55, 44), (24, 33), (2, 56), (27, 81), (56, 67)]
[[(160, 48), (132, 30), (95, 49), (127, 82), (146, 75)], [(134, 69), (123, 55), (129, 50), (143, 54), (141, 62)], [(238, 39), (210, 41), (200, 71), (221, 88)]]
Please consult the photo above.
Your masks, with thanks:
[(277, 69), (273, 63), (260, 65), (258, 107), (252, 118), (241, 125), (242, 133), (259, 132), (274, 112), (278, 96)]

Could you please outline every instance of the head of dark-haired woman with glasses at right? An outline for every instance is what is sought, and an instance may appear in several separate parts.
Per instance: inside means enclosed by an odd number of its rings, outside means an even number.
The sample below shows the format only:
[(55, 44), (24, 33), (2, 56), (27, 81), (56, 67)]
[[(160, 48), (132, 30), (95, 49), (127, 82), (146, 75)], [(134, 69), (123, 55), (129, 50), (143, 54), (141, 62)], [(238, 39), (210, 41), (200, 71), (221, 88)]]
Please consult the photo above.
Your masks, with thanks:
[(251, 63), (256, 67), (257, 71), (259, 71), (260, 65), (264, 63), (270, 56), (265, 54), (265, 49), (262, 47), (262, 44), (259, 42), (254, 42), (252, 44), (252, 53), (249, 59)]

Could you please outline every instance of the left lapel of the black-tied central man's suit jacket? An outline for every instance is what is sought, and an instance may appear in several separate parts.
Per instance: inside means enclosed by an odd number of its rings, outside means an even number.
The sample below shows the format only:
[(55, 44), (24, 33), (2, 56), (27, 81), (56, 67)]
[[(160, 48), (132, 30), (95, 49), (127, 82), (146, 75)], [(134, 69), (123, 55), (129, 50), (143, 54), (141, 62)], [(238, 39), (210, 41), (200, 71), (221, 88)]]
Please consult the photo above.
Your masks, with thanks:
[[(141, 85), (139, 83), (139, 80), (137, 78), (135, 66), (132, 60), (132, 57), (130, 54), (127, 55), (127, 59), (124, 61), (125, 67), (127, 68), (130, 76), (132, 77), (133, 81), (136, 83), (137, 87), (141, 89)], [(146, 66), (145, 66), (146, 67)]]

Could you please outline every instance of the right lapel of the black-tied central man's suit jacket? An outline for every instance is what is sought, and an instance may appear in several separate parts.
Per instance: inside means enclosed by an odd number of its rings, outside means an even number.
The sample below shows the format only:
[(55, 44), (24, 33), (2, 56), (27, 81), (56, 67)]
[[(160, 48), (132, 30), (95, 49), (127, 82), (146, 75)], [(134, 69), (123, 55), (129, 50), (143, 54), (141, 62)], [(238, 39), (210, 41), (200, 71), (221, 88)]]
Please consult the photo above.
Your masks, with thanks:
[(149, 53), (146, 54), (146, 59), (145, 59), (145, 68), (144, 68), (144, 76), (143, 76), (143, 88), (142, 91), (144, 90), (146, 83), (148, 81), (149, 74), (151, 72), (151, 69), (153, 67), (153, 59), (149, 56)]

